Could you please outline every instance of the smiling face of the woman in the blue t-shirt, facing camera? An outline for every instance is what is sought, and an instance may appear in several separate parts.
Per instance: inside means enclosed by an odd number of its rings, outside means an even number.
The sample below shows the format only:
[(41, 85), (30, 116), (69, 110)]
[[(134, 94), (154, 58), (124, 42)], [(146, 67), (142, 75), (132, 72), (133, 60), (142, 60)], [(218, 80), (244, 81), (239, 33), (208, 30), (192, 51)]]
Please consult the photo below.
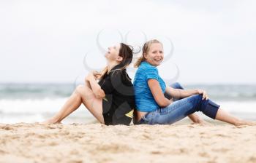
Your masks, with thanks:
[(144, 57), (148, 63), (154, 66), (158, 66), (164, 59), (164, 52), (161, 43), (153, 43), (150, 45), (148, 52), (144, 54)]

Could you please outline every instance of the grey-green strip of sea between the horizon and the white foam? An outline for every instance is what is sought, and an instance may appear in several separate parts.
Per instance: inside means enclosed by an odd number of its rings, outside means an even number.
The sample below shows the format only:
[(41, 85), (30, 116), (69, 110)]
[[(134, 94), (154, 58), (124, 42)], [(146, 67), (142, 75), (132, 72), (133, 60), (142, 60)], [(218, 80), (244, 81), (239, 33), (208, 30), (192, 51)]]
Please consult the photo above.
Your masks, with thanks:
[[(256, 85), (190, 84), (182, 86), (185, 89), (206, 90), (213, 100), (256, 100)], [(0, 84), (0, 99), (67, 98), (74, 90), (73, 84)]]

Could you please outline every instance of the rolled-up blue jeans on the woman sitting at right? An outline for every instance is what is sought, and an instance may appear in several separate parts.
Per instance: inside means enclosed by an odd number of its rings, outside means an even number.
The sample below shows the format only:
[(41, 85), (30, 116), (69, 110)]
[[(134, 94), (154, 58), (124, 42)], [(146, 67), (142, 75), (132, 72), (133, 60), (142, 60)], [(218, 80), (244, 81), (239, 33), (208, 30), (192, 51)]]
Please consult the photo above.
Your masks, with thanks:
[[(178, 82), (171, 84), (170, 87), (184, 89)], [(166, 98), (171, 98), (165, 94)], [(173, 103), (165, 108), (157, 108), (145, 114), (137, 124), (173, 124), (184, 119), (189, 114), (202, 111), (206, 116), (215, 119), (219, 105), (211, 100), (202, 100), (203, 95), (192, 95), (187, 98), (173, 99)]]

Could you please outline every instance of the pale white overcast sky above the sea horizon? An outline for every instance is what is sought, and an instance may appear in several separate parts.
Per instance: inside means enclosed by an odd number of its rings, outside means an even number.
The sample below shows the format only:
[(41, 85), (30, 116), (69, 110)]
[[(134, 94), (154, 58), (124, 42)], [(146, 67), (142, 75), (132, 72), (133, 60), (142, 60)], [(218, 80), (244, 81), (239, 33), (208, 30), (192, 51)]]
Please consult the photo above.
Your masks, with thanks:
[(167, 80), (256, 84), (255, 8), (253, 0), (1, 0), (0, 82), (83, 81), (84, 65), (105, 65), (99, 35), (104, 48), (159, 39), (165, 55), (173, 49), (159, 67)]

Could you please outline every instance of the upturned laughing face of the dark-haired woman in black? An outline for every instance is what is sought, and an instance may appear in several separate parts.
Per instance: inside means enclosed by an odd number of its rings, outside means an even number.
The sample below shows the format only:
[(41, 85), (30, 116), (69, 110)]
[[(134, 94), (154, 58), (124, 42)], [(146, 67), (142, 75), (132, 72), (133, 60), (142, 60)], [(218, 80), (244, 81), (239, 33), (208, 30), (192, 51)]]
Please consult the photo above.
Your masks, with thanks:
[(108, 52), (106, 52), (105, 57), (107, 58), (108, 61), (113, 62), (121, 62), (122, 57), (119, 56), (119, 51), (120, 51), (121, 45), (116, 44), (113, 47), (108, 47)]

